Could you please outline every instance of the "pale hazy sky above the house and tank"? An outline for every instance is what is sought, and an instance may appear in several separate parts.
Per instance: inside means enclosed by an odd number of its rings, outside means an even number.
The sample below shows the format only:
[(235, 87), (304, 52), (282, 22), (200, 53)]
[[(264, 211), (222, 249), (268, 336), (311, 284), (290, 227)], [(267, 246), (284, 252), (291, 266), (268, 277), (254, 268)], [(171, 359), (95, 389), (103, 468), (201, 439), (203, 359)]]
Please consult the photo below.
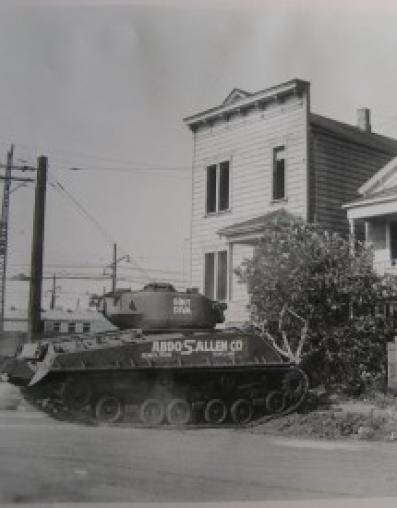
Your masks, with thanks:
[[(190, 114), (234, 87), (311, 82), (312, 111), (397, 137), (397, 8), (390, 2), (60, 0), (0, 5), (0, 161), (49, 163), (45, 275), (58, 305), (120, 286), (189, 285)], [(71, 168), (80, 168), (73, 170)], [(16, 184), (13, 184), (13, 188)], [(34, 186), (11, 194), (8, 277), (29, 274)], [(109, 273), (106, 271), (106, 273)], [(43, 283), (48, 307), (51, 281)], [(6, 306), (27, 306), (8, 281)]]

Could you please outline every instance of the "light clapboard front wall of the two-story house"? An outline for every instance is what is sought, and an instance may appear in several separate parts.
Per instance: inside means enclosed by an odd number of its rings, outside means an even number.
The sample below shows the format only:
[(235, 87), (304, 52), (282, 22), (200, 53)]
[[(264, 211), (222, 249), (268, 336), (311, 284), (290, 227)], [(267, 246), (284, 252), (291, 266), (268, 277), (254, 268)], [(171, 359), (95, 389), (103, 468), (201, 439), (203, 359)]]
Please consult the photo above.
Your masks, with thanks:
[[(273, 149), (286, 149), (287, 200), (272, 203)], [(230, 210), (206, 216), (206, 168), (230, 161)], [(194, 134), (192, 204), (192, 285), (203, 290), (204, 253), (228, 250), (221, 228), (284, 207), (307, 217), (307, 102), (291, 96), (274, 102), (262, 112), (252, 109), (244, 116), (200, 127)], [(233, 246), (233, 268), (252, 248)], [(227, 319), (248, 318), (248, 295), (244, 285), (231, 275)]]

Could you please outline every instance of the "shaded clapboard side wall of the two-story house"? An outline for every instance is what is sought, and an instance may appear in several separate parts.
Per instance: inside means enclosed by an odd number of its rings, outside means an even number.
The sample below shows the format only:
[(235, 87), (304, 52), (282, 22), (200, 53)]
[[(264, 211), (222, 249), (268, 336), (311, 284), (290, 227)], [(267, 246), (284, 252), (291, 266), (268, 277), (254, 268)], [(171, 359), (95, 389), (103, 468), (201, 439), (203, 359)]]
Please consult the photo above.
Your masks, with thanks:
[(392, 154), (353, 143), (311, 126), (310, 220), (347, 235), (343, 204), (358, 197), (358, 188), (383, 167)]

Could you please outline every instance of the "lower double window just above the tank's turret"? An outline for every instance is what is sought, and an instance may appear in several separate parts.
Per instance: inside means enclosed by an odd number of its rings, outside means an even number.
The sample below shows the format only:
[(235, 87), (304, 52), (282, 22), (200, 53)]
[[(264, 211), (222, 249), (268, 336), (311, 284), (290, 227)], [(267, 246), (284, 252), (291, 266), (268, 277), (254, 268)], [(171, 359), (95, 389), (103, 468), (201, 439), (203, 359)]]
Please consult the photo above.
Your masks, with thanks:
[(204, 294), (211, 300), (226, 300), (227, 251), (207, 252), (205, 254)]

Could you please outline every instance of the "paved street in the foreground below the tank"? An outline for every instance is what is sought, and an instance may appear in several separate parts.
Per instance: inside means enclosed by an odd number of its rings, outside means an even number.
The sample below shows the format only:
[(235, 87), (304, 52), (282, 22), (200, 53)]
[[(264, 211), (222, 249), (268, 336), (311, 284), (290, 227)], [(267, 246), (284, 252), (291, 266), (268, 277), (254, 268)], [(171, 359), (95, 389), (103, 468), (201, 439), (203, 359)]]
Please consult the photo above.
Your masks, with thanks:
[(397, 443), (85, 427), (0, 411), (0, 502), (397, 496)]

